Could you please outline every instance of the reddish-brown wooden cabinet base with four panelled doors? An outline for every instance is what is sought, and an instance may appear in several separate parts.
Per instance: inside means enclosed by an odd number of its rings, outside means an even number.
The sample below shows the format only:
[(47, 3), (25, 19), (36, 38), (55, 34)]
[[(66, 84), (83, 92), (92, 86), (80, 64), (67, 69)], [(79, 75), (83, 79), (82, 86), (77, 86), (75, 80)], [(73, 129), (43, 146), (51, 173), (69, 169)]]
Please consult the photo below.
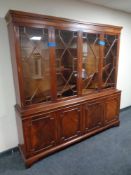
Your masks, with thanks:
[(25, 164), (31, 166), (57, 150), (119, 125), (119, 107), (117, 91), (26, 117), (18, 113), (19, 147)]

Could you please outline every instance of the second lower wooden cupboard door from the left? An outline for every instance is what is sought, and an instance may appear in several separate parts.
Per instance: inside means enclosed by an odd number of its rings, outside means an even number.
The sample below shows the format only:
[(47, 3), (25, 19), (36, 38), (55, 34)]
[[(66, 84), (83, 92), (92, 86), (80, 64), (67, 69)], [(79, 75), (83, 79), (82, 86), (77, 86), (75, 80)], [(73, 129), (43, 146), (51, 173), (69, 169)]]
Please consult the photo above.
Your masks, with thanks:
[(60, 141), (65, 142), (71, 140), (81, 133), (81, 107), (75, 106), (72, 108), (60, 111)]

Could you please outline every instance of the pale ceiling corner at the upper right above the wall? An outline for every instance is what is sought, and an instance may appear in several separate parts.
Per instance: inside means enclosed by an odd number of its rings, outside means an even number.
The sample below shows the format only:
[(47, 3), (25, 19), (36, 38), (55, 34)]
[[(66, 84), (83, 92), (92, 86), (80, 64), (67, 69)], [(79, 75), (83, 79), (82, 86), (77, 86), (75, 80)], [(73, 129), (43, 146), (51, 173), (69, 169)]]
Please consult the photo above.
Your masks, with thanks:
[(131, 13), (131, 0), (79, 0)]

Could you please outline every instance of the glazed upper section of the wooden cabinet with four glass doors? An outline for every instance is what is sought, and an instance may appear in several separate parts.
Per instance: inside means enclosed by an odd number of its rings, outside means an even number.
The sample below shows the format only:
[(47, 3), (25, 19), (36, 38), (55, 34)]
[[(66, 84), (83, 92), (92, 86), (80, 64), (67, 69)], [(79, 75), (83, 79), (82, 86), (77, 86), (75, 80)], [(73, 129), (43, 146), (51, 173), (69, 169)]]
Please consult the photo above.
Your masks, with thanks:
[[(122, 27), (10, 10), (17, 106), (116, 89)], [(19, 108), (19, 107), (18, 107)]]

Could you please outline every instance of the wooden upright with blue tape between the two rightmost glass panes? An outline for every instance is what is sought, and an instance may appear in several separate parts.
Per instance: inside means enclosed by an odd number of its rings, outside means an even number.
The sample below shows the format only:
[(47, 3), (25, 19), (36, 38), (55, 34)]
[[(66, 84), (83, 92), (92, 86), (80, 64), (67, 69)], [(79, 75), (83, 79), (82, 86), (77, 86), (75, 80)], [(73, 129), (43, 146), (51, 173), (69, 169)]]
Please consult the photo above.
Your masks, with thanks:
[[(104, 43), (104, 34), (100, 34), (100, 43)], [(104, 61), (104, 48), (105, 45), (104, 44), (100, 44), (99, 46), (99, 65), (98, 65), (98, 89), (101, 90), (102, 89), (102, 85), (103, 85), (103, 80), (102, 80), (102, 76), (103, 76), (103, 61)]]

